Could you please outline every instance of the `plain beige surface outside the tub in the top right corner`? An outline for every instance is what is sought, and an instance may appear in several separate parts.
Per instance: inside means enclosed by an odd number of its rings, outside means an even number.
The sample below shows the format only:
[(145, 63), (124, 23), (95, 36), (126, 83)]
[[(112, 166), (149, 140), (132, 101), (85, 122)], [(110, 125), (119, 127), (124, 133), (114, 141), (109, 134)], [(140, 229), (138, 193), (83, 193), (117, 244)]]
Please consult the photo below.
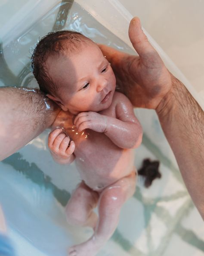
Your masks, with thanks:
[(204, 102), (204, 1), (120, 0), (189, 80)]

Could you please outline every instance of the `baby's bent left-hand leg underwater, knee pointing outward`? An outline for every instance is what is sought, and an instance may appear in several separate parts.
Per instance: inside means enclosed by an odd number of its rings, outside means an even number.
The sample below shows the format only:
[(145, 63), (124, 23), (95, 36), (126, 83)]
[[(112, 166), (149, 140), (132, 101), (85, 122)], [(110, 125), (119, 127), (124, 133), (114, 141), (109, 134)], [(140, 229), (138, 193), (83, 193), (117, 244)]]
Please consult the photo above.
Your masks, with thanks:
[(99, 200), (99, 194), (81, 182), (74, 190), (66, 206), (66, 217), (70, 224), (96, 227), (98, 216), (93, 212)]

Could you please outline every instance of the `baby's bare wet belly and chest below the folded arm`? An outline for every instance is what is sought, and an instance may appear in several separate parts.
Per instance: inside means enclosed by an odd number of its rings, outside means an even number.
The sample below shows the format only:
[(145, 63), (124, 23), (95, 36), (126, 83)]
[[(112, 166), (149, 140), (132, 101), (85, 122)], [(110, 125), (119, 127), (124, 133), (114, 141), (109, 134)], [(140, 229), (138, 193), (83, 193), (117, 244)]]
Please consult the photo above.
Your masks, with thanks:
[(104, 134), (90, 135), (89, 140), (76, 144), (75, 163), (81, 179), (99, 191), (132, 172), (134, 150), (117, 147)]

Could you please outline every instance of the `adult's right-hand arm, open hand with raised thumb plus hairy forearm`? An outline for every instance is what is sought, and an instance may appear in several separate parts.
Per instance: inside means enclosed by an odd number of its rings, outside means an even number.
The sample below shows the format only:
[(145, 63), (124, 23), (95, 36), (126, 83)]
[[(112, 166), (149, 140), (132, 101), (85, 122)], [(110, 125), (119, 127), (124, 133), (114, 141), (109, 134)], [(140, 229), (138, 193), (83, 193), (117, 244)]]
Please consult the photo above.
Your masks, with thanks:
[(204, 219), (204, 111), (167, 70), (137, 17), (130, 22), (129, 37), (139, 56), (99, 46), (133, 106), (156, 110), (185, 185)]

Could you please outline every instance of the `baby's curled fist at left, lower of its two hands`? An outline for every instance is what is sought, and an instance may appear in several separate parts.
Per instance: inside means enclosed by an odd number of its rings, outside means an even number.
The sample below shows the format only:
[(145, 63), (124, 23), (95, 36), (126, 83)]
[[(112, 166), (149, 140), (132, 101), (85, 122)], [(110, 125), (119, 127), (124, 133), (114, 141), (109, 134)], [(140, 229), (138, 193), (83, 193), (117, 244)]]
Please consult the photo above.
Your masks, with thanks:
[(74, 141), (63, 133), (62, 128), (56, 128), (48, 136), (48, 147), (57, 163), (69, 164), (74, 161)]

